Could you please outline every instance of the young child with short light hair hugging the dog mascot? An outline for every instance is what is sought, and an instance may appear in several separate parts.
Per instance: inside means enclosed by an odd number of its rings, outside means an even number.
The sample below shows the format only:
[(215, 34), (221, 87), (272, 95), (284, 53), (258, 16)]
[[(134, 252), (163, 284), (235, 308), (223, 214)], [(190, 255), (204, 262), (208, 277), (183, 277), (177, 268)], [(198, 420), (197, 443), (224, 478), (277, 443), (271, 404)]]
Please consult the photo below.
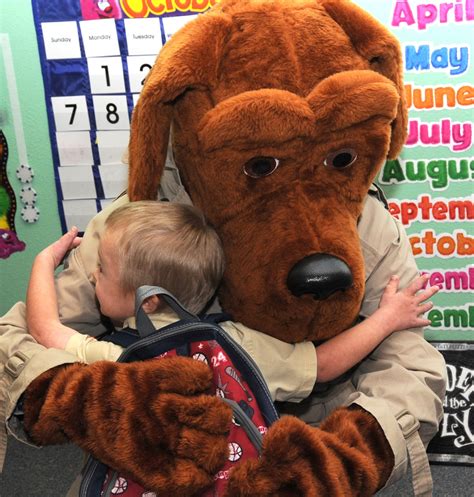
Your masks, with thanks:
[[(27, 295), (27, 320), (30, 333), (46, 347), (66, 349), (82, 362), (117, 360), (122, 348), (98, 342), (61, 324), (54, 288), (54, 270), (64, 255), (80, 243), (73, 228), (36, 257)], [(219, 284), (224, 257), (219, 238), (194, 207), (155, 201), (134, 202), (114, 211), (106, 221), (99, 245), (99, 267), (94, 275), (101, 312), (134, 328), (135, 290), (141, 285), (166, 288), (191, 312), (201, 311)], [(299, 401), (311, 392), (314, 382), (327, 382), (360, 362), (395, 331), (426, 326), (422, 317), (431, 307), (425, 302), (437, 291), (422, 288), (426, 276), (398, 290), (392, 277), (382, 296), (379, 309), (370, 317), (315, 348), (312, 343), (285, 344), (245, 327), (241, 323), (222, 323), (224, 330), (252, 355), (255, 343), (271, 352), (271, 361), (258, 364), (274, 400)], [(143, 303), (158, 329), (177, 319), (176, 315), (151, 296)], [(252, 345), (249, 345), (249, 336)], [(275, 343), (274, 343), (275, 342)], [(276, 346), (276, 349), (274, 347)], [(305, 348), (313, 355), (310, 385), (301, 386), (308, 376), (307, 364), (291, 364), (291, 350)], [(275, 350), (280, 351), (279, 355)], [(298, 357), (301, 357), (299, 355)], [(294, 361), (293, 361), (294, 362)], [(286, 396), (278, 385), (283, 375), (294, 378)], [(299, 374), (298, 374), (299, 373)], [(295, 394), (295, 392), (299, 392)], [(299, 398), (297, 398), (299, 395)]]

